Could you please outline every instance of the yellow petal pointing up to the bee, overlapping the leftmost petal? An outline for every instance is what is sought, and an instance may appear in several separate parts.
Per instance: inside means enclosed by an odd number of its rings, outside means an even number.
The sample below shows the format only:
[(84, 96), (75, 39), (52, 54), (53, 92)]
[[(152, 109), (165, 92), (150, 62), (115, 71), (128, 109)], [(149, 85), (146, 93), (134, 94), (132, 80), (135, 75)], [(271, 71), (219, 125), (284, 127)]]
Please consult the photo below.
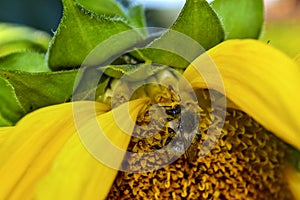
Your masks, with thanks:
[[(106, 140), (106, 136), (114, 145), (121, 149), (127, 149), (130, 135), (120, 129), (120, 124), (115, 122), (115, 115), (119, 114), (119, 119), (122, 120), (121, 126), (131, 124), (131, 127), (125, 127), (131, 134), (136, 117), (146, 101), (135, 100), (129, 103), (129, 107), (127, 104), (123, 104), (98, 116), (96, 120), (99, 121), (104, 135), (99, 134), (99, 127), (95, 127), (92, 121), (81, 124), (80, 130), (84, 130), (83, 133), (80, 133), (81, 140), (78, 135), (73, 135), (63, 147), (53, 162), (50, 172), (40, 181), (35, 199), (105, 199), (118, 170), (107, 166), (107, 163), (103, 164), (97, 161), (95, 157), (97, 158), (97, 154), (100, 153), (108, 156), (110, 160), (114, 161), (114, 164), (118, 166), (121, 164), (125, 151), (121, 154), (114, 154), (113, 151), (110, 151), (111, 147), (103, 141)], [(128, 108), (130, 117), (134, 121), (133, 124), (130, 123), (129, 116), (125, 114), (128, 112)], [(90, 154), (91, 152), (94, 157)]]

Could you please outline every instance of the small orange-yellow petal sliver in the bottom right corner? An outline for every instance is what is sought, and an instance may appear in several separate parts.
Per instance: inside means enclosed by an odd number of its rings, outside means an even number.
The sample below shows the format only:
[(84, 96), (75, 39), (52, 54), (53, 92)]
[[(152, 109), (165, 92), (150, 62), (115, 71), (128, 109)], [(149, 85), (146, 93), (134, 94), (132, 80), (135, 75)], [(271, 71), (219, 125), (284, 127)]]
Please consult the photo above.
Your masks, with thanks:
[(294, 166), (288, 166), (284, 173), (295, 200), (300, 200), (300, 172)]

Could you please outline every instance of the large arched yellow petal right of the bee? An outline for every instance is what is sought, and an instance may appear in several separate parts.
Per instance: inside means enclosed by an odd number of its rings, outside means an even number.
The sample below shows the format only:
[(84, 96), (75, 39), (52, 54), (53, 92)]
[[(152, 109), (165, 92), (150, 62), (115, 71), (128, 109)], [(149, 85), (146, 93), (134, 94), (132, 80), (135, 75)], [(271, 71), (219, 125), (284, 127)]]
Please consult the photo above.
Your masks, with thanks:
[[(206, 88), (211, 60), (218, 68), (226, 96), (285, 142), (300, 150), (300, 68), (286, 55), (255, 40), (223, 42), (198, 57), (184, 72), (194, 88)], [(210, 58), (209, 58), (210, 57)], [(193, 67), (195, 66), (195, 67)], [(197, 68), (197, 70), (196, 70)], [(222, 92), (217, 84), (212, 86)]]

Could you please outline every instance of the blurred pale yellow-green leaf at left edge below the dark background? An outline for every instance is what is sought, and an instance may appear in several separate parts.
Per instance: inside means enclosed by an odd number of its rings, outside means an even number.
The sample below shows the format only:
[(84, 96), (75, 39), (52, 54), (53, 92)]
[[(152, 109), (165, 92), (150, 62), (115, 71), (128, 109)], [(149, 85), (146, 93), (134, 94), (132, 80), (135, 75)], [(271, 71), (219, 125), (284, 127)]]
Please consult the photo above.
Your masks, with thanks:
[(0, 56), (31, 50), (46, 52), (50, 35), (33, 28), (16, 24), (0, 23)]

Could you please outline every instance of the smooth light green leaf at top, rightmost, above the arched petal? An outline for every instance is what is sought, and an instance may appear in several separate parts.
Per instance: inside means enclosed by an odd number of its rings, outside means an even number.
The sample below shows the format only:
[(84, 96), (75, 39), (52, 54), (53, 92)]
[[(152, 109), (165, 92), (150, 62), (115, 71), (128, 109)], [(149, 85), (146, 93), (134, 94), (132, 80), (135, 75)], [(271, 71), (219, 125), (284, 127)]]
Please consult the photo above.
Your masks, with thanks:
[(263, 0), (215, 0), (211, 5), (223, 22), (226, 39), (260, 36), (264, 22)]

